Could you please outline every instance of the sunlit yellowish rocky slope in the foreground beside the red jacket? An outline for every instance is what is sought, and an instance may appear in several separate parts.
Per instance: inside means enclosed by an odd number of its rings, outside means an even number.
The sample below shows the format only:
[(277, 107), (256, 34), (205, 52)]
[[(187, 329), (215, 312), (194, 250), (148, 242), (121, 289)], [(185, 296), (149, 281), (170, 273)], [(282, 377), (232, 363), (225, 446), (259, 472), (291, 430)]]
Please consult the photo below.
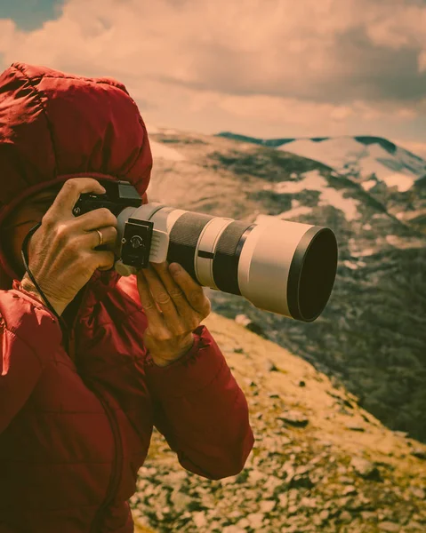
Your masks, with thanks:
[(420, 533), (426, 446), (392, 432), (284, 348), (218, 314), (205, 321), (249, 405), (244, 470), (183, 469), (154, 430), (130, 503), (141, 533)]

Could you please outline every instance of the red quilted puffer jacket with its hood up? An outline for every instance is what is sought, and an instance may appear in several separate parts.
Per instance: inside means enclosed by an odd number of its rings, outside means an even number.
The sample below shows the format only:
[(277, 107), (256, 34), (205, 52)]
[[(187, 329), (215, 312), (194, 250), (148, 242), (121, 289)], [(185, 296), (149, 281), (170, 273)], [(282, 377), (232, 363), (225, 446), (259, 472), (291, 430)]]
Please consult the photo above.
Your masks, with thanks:
[[(0, 76), (0, 225), (71, 175), (128, 180), (147, 203), (151, 166), (124, 85), (22, 63)], [(253, 448), (245, 395), (205, 326), (173, 365), (149, 358), (134, 275), (95, 271), (75, 324), (73, 362), (56, 317), (20, 288), (0, 246), (0, 533), (89, 533), (114, 465), (96, 533), (133, 531), (127, 500), (153, 426), (184, 468), (213, 480), (240, 472)]]

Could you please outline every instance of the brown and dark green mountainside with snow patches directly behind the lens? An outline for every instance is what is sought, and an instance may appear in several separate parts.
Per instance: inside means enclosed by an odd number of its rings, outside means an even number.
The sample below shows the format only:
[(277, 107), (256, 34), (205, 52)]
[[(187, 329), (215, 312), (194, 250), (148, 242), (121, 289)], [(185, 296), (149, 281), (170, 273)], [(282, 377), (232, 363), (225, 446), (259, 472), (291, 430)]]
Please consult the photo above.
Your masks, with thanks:
[(213, 312), (244, 315), (265, 338), (357, 394), (360, 407), (385, 425), (426, 442), (426, 235), (362, 183), (301, 155), (182, 131), (149, 130), (149, 139), (149, 201), (250, 223), (276, 217), (334, 230), (336, 281), (315, 322), (205, 288)]

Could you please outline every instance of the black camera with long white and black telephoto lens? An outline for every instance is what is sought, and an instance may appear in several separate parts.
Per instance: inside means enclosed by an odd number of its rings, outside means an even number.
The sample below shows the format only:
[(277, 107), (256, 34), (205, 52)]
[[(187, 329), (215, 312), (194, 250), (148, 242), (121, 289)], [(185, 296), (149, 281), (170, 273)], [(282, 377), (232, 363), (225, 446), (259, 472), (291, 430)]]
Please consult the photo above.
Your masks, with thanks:
[(163, 203), (142, 204), (127, 181), (99, 179), (106, 194), (80, 195), (75, 216), (108, 208), (117, 217), (113, 251), (118, 274), (149, 262), (185, 268), (200, 285), (243, 296), (253, 306), (301, 322), (326, 307), (337, 272), (338, 247), (328, 227), (274, 219), (253, 224)]

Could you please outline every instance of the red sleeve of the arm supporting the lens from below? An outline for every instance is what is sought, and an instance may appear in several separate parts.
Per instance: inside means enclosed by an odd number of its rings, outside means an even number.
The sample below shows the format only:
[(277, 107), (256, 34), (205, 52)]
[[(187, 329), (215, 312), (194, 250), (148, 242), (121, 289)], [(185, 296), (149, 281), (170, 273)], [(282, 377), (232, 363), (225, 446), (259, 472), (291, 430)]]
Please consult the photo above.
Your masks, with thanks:
[(188, 354), (167, 367), (147, 357), (154, 426), (190, 472), (211, 480), (243, 470), (253, 449), (245, 395), (204, 325)]

